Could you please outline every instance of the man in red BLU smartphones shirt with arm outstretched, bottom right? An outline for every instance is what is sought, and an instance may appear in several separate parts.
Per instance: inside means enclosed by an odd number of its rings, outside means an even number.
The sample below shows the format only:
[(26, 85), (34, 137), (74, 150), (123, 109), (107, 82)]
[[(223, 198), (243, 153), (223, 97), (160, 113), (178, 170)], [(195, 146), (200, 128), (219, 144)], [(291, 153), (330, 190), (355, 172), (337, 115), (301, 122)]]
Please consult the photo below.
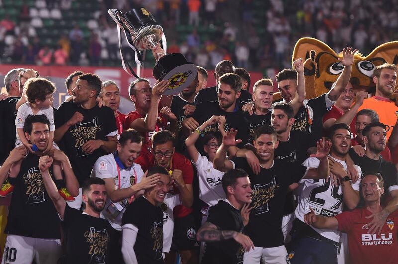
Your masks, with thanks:
[[(361, 182), (361, 194), (365, 206), (346, 211), (335, 217), (325, 217), (311, 212), (304, 216), (307, 224), (316, 228), (335, 229), (348, 234), (351, 263), (396, 264), (398, 260), (397, 232), (398, 212), (390, 214), (381, 232), (368, 233), (368, 224), (374, 214), (383, 210), (380, 197), (384, 193), (381, 175), (366, 175)], [(294, 256), (293, 256), (294, 258)]]

